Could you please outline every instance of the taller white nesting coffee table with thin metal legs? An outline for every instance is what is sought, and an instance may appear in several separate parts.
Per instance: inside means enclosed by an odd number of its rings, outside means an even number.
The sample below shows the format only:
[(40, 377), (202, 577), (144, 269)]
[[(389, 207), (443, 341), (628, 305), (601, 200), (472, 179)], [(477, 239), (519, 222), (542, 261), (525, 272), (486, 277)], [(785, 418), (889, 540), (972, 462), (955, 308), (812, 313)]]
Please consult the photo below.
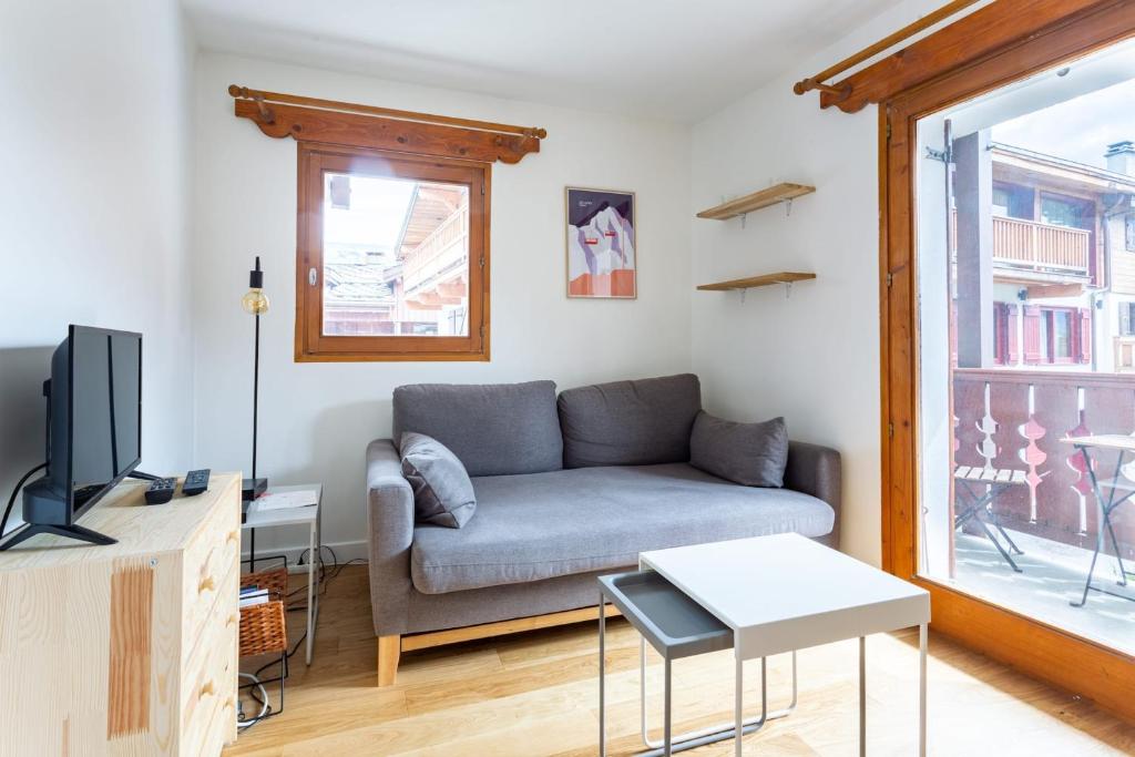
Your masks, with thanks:
[[(796, 533), (644, 552), (659, 573), (733, 630), (734, 750), (743, 730), (742, 663), (859, 638), (859, 754), (866, 741), (866, 640), (918, 626), (918, 754), (926, 754), (930, 592)], [(599, 614), (600, 623), (603, 613)], [(764, 681), (762, 681), (764, 683)], [(763, 692), (763, 698), (767, 692)], [(766, 706), (766, 703), (762, 703)]]

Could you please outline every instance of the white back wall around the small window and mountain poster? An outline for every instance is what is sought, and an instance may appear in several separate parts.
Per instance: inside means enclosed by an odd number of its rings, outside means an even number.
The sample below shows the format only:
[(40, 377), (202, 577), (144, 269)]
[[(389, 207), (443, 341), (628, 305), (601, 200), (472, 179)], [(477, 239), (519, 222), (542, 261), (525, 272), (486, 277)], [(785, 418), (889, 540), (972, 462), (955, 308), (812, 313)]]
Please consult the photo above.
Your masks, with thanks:
[[(493, 361), (293, 361), (296, 145), (233, 116), (229, 84), (548, 129), (541, 152), (493, 170)], [(587, 103), (581, 103), (586, 107)], [(325, 542), (360, 554), (363, 454), (390, 431), (390, 392), (422, 381), (554, 379), (561, 387), (690, 368), (689, 129), (335, 74), (216, 52), (197, 59), (194, 254), (195, 464), (250, 464), (252, 320), (239, 309), (254, 254), (262, 321), (260, 472), (322, 481)], [(564, 296), (565, 185), (637, 192), (639, 298)], [(302, 533), (264, 533), (264, 546)]]

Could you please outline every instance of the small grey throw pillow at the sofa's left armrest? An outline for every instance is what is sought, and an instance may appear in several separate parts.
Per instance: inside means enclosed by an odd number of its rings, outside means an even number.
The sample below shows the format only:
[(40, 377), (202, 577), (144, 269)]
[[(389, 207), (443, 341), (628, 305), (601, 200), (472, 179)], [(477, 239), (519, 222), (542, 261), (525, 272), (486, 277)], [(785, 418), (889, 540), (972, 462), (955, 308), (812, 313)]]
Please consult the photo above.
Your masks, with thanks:
[(460, 529), (477, 510), (473, 482), (457, 456), (424, 434), (402, 435), (402, 476), (414, 491), (414, 520)]

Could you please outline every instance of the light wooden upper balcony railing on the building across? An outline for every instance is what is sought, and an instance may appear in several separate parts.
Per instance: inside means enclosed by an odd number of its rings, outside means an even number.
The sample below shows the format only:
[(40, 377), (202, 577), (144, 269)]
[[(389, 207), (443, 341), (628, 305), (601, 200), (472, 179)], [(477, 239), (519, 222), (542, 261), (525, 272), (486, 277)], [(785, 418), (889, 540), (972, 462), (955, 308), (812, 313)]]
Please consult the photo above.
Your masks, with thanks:
[[(958, 215), (952, 216), (957, 247)], [(1084, 229), (993, 217), (993, 262), (1002, 268), (1088, 276), (1091, 242), (1091, 233)]]

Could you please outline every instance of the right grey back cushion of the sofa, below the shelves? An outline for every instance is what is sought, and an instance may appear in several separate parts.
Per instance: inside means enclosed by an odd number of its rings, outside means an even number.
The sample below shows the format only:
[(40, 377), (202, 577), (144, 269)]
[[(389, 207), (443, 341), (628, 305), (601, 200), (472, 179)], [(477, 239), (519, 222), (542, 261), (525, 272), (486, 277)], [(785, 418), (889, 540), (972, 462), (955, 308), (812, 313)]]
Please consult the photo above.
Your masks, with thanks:
[(692, 373), (596, 384), (562, 392), (557, 405), (564, 468), (684, 463), (701, 386)]

